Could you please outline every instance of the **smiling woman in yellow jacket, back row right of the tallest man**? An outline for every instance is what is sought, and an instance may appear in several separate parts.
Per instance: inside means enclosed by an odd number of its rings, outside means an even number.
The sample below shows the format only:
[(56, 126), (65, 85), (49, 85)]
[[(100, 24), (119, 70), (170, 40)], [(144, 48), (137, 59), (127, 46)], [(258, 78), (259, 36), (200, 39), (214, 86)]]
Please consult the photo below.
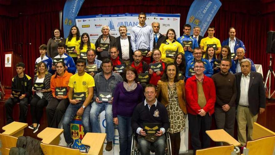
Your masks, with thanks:
[[(174, 29), (168, 29), (166, 33), (166, 38), (160, 45), (159, 50), (161, 51), (161, 59), (166, 64), (174, 62), (174, 57), (166, 57), (166, 51), (177, 51), (178, 53), (183, 53), (183, 46), (177, 42), (176, 33)], [(176, 54), (174, 54), (176, 55)]]

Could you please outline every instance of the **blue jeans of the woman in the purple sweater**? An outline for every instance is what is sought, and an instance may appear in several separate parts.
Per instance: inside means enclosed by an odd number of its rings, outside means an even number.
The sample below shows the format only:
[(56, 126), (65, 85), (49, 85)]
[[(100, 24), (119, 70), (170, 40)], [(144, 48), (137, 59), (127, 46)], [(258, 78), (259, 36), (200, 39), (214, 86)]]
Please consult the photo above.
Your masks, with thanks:
[(131, 118), (118, 115), (119, 155), (131, 154), (132, 127)]

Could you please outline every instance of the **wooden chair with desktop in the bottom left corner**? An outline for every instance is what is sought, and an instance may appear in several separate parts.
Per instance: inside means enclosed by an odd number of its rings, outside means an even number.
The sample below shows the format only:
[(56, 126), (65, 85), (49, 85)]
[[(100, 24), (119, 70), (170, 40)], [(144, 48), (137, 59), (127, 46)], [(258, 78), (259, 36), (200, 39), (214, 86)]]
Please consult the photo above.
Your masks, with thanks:
[(27, 123), (12, 122), (2, 129), (3, 133), (0, 133), (0, 140), (2, 147), (0, 148), (2, 155), (8, 155), (12, 147), (16, 147), (17, 139), (19, 136), (23, 136), (24, 128), (27, 127)]

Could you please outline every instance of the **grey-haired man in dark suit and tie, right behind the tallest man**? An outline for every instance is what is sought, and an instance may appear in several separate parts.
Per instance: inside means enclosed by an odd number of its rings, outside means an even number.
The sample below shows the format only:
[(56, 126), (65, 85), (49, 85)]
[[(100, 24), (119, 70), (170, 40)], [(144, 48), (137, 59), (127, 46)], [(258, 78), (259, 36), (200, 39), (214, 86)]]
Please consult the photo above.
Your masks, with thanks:
[(159, 33), (160, 23), (152, 23), (153, 33), (154, 33), (154, 49), (158, 49), (161, 43), (165, 40), (165, 36)]

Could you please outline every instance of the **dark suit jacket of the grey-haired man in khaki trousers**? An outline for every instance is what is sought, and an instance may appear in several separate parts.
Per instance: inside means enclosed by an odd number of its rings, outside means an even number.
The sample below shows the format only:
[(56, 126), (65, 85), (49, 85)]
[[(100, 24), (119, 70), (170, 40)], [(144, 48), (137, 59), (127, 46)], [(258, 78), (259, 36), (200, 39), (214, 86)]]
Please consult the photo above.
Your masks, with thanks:
[[(240, 94), (241, 94), (241, 78), (242, 72), (236, 73), (236, 82), (237, 82), (237, 99), (236, 99), (236, 106), (239, 104), (240, 101)], [(244, 97), (244, 96), (242, 96)], [(249, 81), (249, 88), (248, 88), (248, 104), (251, 113), (255, 116), (257, 115), (259, 108), (265, 108), (265, 88), (263, 84), (262, 75), (257, 72), (250, 72), (250, 81)]]

